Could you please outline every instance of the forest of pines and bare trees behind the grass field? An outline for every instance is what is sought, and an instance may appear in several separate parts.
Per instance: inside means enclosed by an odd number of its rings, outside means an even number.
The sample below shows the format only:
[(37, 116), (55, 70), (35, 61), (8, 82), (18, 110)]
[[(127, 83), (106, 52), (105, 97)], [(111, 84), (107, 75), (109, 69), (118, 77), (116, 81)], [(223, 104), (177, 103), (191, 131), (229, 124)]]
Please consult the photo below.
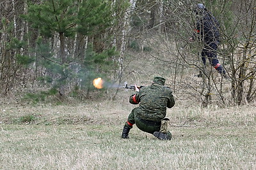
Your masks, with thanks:
[[(220, 22), (227, 83), (190, 43), (200, 1), (2, 1), (1, 96), (34, 102), (115, 99), (124, 83), (166, 78), (177, 98), (202, 106), (253, 103), (255, 1), (205, 1)], [(196, 78), (199, 71), (204, 78)], [(95, 89), (93, 79), (104, 80)], [(122, 93), (122, 92), (121, 92)]]

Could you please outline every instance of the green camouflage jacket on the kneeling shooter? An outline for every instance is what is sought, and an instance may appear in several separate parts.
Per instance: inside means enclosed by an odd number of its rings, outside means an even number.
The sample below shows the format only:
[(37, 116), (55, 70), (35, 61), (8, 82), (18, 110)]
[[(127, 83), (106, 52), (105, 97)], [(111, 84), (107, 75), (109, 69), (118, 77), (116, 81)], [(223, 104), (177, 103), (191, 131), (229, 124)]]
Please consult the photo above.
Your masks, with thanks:
[(129, 102), (131, 104), (140, 103), (138, 110), (136, 110), (138, 117), (155, 122), (166, 117), (166, 107), (172, 108), (175, 104), (172, 90), (158, 84), (142, 87), (140, 92), (130, 96)]

